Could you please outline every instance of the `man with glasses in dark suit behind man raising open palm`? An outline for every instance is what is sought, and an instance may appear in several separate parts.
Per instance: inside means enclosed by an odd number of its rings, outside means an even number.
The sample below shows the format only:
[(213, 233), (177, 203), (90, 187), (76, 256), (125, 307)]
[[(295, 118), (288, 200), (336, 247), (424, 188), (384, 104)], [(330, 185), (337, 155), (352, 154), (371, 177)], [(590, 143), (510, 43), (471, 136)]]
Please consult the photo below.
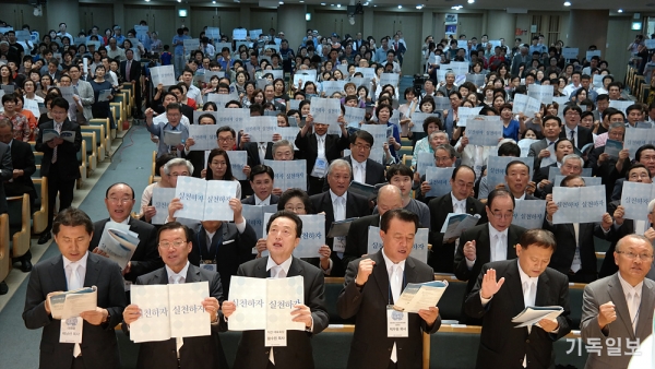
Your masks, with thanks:
[[(514, 204), (510, 192), (491, 191), (486, 205), (489, 223), (466, 229), (460, 237), (454, 269), (457, 279), (468, 281), (464, 296), (473, 290), (483, 265), (516, 259), (516, 243), (526, 229), (512, 224)], [(475, 324), (467, 319), (466, 324), (479, 325), (479, 322)]]

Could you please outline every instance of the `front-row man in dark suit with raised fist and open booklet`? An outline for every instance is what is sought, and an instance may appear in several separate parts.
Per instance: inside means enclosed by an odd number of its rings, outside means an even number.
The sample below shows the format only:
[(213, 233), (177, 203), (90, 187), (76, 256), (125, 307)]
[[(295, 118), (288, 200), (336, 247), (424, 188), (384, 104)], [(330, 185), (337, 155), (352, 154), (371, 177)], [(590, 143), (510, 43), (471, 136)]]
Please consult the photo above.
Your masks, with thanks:
[(342, 318), (357, 317), (349, 369), (420, 368), (422, 332), (432, 334), (441, 326), (434, 306), (418, 313), (393, 311), (404, 316), (408, 332), (405, 336), (388, 335), (389, 306), (398, 300), (407, 283), (433, 279), (429, 265), (409, 258), (417, 229), (418, 215), (404, 209), (385, 212), (380, 222), (382, 250), (348, 264), (336, 306)]

